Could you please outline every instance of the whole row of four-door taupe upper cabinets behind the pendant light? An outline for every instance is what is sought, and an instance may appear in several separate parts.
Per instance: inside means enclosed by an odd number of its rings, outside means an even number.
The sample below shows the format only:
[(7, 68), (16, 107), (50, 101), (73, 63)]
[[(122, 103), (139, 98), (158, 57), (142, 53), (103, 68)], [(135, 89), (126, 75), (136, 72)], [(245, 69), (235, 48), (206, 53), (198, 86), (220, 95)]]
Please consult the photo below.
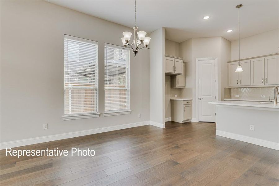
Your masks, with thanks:
[(240, 61), (243, 72), (235, 72), (238, 62), (228, 63), (228, 86), (279, 84), (279, 55)]

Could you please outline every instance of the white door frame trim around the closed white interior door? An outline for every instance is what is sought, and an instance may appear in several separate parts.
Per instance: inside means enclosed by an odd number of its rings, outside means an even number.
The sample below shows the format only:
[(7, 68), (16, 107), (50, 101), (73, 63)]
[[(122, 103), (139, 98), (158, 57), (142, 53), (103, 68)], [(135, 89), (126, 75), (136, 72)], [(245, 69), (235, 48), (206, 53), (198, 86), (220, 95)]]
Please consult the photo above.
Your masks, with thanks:
[[(217, 57), (214, 58), (196, 58), (196, 113), (197, 113), (197, 122), (199, 122), (199, 67), (198, 63), (199, 61), (204, 61), (204, 60), (215, 60), (215, 101), (218, 101), (218, 60)], [(214, 105), (215, 106), (215, 105)], [(215, 113), (216, 113), (216, 107), (215, 107)], [(216, 116), (215, 116), (215, 122), (216, 122)]]

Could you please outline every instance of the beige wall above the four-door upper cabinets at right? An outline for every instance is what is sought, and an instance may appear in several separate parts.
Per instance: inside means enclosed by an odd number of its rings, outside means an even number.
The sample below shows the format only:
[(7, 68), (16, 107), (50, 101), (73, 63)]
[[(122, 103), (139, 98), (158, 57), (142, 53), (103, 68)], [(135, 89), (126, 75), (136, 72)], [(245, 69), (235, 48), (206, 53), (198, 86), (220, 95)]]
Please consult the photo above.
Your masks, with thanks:
[[(240, 39), (240, 59), (279, 52), (279, 29)], [(238, 59), (238, 40), (231, 42), (231, 60)]]

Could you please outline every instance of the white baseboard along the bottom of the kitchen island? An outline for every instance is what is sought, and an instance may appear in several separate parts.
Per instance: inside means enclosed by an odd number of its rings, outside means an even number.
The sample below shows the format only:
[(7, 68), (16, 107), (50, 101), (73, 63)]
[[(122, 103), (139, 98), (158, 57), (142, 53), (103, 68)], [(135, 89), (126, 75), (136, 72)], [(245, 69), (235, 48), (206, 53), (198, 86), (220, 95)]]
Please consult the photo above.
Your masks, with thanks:
[(255, 144), (255, 145), (260, 145), (260, 146), (267, 147), (267, 148), (272, 148), (275, 150), (279, 150), (279, 143), (272, 142), (272, 141), (267, 141), (267, 140), (258, 139), (258, 138), (252, 138), (249, 136), (244, 136), (244, 135), (240, 135), (240, 134), (234, 134), (231, 132), (225, 132), (225, 131), (219, 131), (219, 130), (216, 130), (216, 135), (223, 136), (226, 138), (236, 139), (239, 141), (244, 141), (244, 142)]

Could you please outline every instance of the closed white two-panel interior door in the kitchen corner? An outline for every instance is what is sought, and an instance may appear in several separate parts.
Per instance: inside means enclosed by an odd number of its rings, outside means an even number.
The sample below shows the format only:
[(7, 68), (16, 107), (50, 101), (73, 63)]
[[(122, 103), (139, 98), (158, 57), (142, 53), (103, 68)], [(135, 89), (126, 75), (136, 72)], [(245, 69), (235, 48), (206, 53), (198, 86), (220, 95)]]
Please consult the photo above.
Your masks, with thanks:
[(198, 120), (215, 122), (215, 60), (198, 60)]

